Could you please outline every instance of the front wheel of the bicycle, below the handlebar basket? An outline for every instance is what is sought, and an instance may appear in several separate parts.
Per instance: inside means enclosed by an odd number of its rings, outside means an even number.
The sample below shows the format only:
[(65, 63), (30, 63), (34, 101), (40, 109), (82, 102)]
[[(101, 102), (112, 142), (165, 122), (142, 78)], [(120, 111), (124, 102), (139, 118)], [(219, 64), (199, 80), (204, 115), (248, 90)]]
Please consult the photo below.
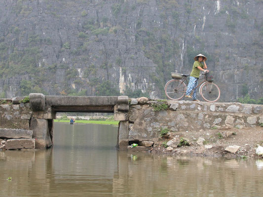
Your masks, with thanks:
[(206, 101), (216, 102), (220, 98), (220, 89), (216, 84), (206, 82), (201, 85), (200, 94)]

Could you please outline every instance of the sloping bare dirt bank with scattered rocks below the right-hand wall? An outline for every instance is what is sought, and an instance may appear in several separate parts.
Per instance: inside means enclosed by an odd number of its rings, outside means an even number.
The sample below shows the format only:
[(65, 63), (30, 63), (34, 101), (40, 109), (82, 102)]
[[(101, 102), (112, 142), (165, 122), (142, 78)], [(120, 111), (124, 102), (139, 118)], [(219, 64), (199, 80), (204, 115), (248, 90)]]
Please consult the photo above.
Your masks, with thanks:
[[(190, 146), (182, 146), (169, 150), (163, 142), (172, 138), (187, 138)], [(198, 138), (205, 139), (202, 145), (197, 144)], [(227, 146), (240, 146), (237, 152), (225, 151)], [(212, 148), (211, 148), (212, 146)], [(258, 146), (263, 146), (263, 127), (246, 129), (210, 129), (201, 131), (181, 131), (172, 133), (169, 138), (160, 141), (151, 148), (151, 153), (184, 154), (191, 156), (227, 157), (227, 158), (260, 158), (256, 154)], [(171, 148), (170, 148), (171, 149)]]

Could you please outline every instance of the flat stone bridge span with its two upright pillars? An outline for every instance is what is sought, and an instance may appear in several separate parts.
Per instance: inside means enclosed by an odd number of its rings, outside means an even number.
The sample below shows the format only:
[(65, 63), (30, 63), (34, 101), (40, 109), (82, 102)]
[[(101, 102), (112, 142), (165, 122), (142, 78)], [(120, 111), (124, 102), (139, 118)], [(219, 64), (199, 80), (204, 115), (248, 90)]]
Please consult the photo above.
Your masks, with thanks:
[[(121, 149), (127, 147), (128, 144), (127, 118), (129, 111), (129, 99), (126, 96), (76, 97), (76, 96), (45, 96), (43, 94), (31, 93), (29, 95), (29, 99), (30, 99), (30, 107), (34, 113), (34, 117), (31, 120), (30, 127), (33, 130), (33, 136), (36, 138), (37, 148), (40, 149), (48, 148), (53, 145), (53, 141), (54, 141), (53, 123), (60, 121), (60, 119), (56, 118), (56, 115), (59, 116), (59, 113), (69, 113), (69, 112), (114, 114), (114, 115), (110, 115), (110, 117), (114, 117), (115, 122), (117, 122), (118, 124), (116, 147), (119, 147)], [(74, 116), (76, 122), (78, 121), (76, 119), (78, 119), (79, 116), (82, 115), (74, 114)], [(111, 119), (110, 117), (107, 117), (107, 119)], [(66, 123), (67, 121), (70, 120), (64, 120), (64, 122)], [(105, 120), (105, 122), (106, 121), (107, 120)]]

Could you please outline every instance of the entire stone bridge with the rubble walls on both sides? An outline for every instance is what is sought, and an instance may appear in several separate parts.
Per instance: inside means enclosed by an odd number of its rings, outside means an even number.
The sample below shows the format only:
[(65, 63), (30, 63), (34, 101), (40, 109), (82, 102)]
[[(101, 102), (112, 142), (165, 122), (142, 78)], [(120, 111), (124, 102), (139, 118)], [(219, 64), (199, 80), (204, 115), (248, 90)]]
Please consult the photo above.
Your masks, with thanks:
[[(45, 96), (35, 93), (30, 94), (30, 102), (24, 103), (21, 99), (0, 102), (0, 138), (9, 139), (8, 143), (12, 142), (10, 138), (21, 138), (18, 148), (26, 148), (27, 142), (23, 140), (29, 141), (29, 148), (52, 146), (56, 112), (113, 112), (114, 119), (119, 121), (116, 145), (119, 149), (127, 149), (134, 142), (143, 146), (152, 145), (162, 140), (160, 131), (163, 129), (171, 132), (214, 127), (241, 129), (263, 123), (263, 105), (253, 104), (129, 99), (126, 96)], [(12, 135), (15, 137), (11, 137), (10, 133), (15, 133)]]

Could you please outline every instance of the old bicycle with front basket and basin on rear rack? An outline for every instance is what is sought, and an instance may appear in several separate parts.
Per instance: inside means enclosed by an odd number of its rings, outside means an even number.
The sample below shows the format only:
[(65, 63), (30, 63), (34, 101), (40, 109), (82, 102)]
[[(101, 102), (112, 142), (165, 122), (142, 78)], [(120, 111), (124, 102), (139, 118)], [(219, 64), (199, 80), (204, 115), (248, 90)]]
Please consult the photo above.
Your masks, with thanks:
[[(186, 95), (189, 74), (171, 72), (171, 75), (173, 79), (168, 81), (164, 87), (165, 95), (171, 100), (180, 100)], [(203, 79), (203, 81), (193, 90), (200, 86), (201, 97), (208, 102), (216, 102), (220, 98), (219, 87), (213, 82), (213, 77), (208, 76), (208, 72), (203, 72), (199, 76), (201, 75), (204, 75), (204, 78), (198, 80)]]

